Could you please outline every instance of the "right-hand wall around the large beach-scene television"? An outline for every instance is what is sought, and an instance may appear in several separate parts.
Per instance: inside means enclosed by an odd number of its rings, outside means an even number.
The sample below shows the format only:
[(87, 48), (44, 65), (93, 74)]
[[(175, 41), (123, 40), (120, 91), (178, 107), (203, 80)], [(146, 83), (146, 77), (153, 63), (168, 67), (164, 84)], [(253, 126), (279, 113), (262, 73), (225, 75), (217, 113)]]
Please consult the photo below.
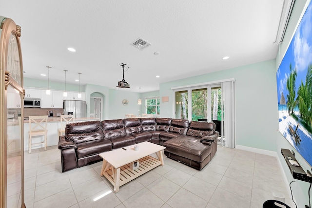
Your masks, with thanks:
[[(284, 54), (286, 53), (286, 50), (290, 44), (290, 41), (292, 39), (293, 33), (297, 28), (297, 24), (299, 24), (299, 21), (301, 20), (301, 16), (303, 15), (303, 11), (305, 11), (308, 3), (310, 0), (296, 0), (294, 7), (292, 9), (292, 16), (290, 18), (290, 21), (287, 26), (287, 30), (285, 33), (285, 37), (283, 40), (283, 43), (280, 44), (280, 54), (278, 53), (276, 56), (276, 65), (275, 65), (275, 72), (277, 71), (280, 61), (283, 59)], [(279, 58), (280, 57), (280, 58)], [(276, 115), (275, 120), (278, 120), (278, 115)], [(309, 164), (301, 157), (301, 155), (292, 147), (292, 145), (284, 138), (284, 136), (276, 131), (275, 133), (276, 138), (276, 152), (279, 157), (279, 160), (281, 161), (282, 167), (284, 169), (284, 172), (286, 174), (286, 177), (288, 179), (288, 182), (295, 181), (296, 183), (292, 183), (292, 193), (294, 195), (294, 198), (297, 202), (297, 206), (300, 208), (304, 208), (305, 205), (309, 205), (309, 195), (308, 190), (310, 184), (307, 182), (295, 180), (292, 177), (292, 174), (282, 156), (280, 153), (281, 149), (289, 149), (293, 150), (295, 152), (295, 158), (303, 168), (303, 170), (310, 170), (311, 167)]]

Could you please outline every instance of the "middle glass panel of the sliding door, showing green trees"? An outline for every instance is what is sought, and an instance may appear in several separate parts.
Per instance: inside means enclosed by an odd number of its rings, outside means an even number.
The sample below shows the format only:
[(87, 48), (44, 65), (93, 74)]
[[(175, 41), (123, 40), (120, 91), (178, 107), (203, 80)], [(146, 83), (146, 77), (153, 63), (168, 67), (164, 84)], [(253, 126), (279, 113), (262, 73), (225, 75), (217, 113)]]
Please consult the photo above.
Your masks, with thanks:
[(192, 90), (192, 120), (207, 121), (207, 88)]

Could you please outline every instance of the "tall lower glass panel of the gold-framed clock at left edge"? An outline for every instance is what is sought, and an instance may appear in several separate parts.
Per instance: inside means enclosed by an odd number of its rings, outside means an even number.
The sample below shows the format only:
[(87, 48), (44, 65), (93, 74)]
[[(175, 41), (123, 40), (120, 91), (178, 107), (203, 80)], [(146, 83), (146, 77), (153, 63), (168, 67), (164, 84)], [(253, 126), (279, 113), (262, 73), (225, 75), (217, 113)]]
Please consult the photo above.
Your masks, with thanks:
[(12, 106), (7, 108), (7, 207), (21, 207), (21, 120), (20, 120), (20, 95), (8, 86), (7, 106), (9, 102), (15, 101)]

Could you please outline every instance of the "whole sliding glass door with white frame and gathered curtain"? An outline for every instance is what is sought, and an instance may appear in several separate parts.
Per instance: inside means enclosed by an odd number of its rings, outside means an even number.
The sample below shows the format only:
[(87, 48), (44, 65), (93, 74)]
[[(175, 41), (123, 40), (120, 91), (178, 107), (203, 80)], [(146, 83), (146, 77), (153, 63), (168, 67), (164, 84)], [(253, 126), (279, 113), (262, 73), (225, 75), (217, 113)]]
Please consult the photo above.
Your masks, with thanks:
[(176, 118), (215, 123), (220, 144), (235, 147), (234, 81), (176, 89)]

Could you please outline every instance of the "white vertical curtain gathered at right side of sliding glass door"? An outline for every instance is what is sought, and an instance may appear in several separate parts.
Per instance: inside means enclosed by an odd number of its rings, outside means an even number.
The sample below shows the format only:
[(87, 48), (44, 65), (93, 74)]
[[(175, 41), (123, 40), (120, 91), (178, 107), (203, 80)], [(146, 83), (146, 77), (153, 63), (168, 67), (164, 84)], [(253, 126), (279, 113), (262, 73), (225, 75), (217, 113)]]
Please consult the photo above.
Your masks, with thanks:
[(223, 122), (221, 122), (221, 131), (222, 135), (224, 135), (224, 137), (221, 137), (221, 145), (228, 148), (235, 148), (234, 81), (222, 82), (221, 89), (222, 121), (224, 121), (224, 127)]

